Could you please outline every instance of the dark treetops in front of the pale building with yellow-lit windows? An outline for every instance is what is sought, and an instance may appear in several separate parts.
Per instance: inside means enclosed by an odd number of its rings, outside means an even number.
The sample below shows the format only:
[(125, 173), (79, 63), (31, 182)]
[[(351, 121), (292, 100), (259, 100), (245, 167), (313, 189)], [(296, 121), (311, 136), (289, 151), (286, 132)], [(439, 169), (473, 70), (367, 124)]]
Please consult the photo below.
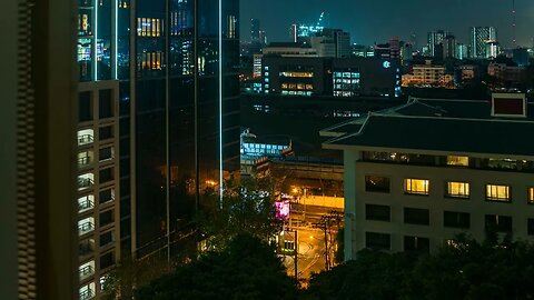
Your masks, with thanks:
[(363, 250), (316, 274), (304, 299), (533, 299), (534, 247), (459, 236), (434, 256)]

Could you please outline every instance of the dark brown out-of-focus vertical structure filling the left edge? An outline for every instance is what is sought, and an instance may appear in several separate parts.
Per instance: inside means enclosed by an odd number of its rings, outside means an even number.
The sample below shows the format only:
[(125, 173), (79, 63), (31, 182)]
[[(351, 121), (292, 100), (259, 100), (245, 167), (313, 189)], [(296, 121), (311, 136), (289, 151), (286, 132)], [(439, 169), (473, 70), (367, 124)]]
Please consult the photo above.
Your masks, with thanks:
[(70, 0), (0, 1), (1, 298), (78, 298), (76, 18)]

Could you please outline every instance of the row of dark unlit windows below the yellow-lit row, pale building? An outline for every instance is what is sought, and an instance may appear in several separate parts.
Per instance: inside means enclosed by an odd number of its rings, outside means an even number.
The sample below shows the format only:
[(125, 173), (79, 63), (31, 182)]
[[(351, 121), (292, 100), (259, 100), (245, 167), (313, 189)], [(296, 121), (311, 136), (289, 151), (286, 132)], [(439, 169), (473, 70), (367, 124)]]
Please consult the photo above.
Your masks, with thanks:
[[(365, 219), (369, 221), (392, 221), (390, 207), (378, 204), (365, 206)], [(431, 213), (427, 209), (404, 208), (404, 223), (407, 224), (431, 224)], [(461, 211), (444, 211), (443, 227), (445, 228), (471, 228), (471, 213)], [(486, 230), (497, 232), (512, 232), (512, 217), (500, 214), (485, 216)], [(528, 234), (534, 234), (534, 219), (528, 219)]]

